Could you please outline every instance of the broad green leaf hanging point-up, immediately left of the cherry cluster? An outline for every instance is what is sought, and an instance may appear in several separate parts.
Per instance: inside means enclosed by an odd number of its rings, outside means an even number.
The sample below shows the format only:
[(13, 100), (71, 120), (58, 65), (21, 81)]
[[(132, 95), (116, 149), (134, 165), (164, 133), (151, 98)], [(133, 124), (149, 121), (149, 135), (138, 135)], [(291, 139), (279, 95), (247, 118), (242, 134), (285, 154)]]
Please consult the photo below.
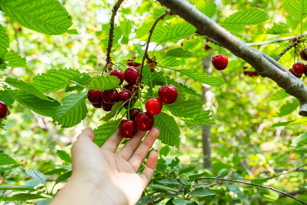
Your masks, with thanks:
[(63, 128), (70, 128), (79, 124), (87, 113), (85, 104), (87, 92), (70, 94), (62, 99), (63, 104), (56, 107), (52, 116), (52, 123), (58, 122)]

